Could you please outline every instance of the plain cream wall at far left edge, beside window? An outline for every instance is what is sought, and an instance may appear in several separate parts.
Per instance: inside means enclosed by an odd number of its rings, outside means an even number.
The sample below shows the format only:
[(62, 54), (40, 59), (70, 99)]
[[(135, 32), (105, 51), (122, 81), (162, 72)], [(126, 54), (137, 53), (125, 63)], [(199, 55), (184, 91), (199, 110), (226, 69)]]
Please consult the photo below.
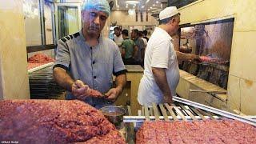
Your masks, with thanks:
[(22, 0), (0, 3), (0, 98), (30, 98)]

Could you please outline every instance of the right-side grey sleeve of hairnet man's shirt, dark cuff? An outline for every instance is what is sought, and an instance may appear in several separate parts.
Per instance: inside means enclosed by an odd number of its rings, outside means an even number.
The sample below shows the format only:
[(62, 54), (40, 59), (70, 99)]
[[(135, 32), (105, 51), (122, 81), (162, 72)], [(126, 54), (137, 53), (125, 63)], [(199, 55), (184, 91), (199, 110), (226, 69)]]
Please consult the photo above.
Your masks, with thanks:
[(115, 76), (126, 73), (126, 67), (122, 62), (121, 53), (118, 46), (114, 44), (114, 66), (113, 74)]

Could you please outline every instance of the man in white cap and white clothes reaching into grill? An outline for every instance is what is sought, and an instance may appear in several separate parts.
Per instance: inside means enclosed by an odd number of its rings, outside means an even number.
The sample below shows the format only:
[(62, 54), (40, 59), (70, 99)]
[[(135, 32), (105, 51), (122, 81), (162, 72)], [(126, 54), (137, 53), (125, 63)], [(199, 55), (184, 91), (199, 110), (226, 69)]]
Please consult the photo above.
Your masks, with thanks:
[[(175, 6), (166, 7), (159, 14), (160, 25), (155, 28), (146, 47), (144, 74), (138, 88), (138, 102), (151, 106), (152, 102), (172, 102), (179, 81), (178, 59), (194, 60), (194, 54), (175, 52), (172, 44), (178, 31), (180, 14)], [(177, 53), (177, 54), (176, 54)]]

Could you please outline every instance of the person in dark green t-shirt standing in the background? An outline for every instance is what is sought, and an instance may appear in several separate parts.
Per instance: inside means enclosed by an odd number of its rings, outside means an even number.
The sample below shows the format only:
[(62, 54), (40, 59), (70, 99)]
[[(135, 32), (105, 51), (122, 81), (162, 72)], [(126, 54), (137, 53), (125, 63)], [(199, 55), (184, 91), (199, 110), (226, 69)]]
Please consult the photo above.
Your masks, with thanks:
[(135, 55), (138, 53), (138, 46), (128, 36), (128, 30), (122, 30), (122, 58), (125, 65), (135, 64)]

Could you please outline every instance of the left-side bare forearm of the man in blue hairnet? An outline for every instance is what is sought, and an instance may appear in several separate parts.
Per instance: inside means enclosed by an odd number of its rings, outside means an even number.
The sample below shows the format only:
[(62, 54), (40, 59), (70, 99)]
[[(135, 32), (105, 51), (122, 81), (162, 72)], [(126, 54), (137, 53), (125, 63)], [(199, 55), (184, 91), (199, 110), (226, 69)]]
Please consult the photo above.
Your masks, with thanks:
[(53, 75), (55, 82), (57, 82), (59, 86), (62, 86), (66, 90), (72, 91), (74, 79), (72, 79), (70, 75), (66, 73), (66, 70), (60, 67), (55, 67)]

